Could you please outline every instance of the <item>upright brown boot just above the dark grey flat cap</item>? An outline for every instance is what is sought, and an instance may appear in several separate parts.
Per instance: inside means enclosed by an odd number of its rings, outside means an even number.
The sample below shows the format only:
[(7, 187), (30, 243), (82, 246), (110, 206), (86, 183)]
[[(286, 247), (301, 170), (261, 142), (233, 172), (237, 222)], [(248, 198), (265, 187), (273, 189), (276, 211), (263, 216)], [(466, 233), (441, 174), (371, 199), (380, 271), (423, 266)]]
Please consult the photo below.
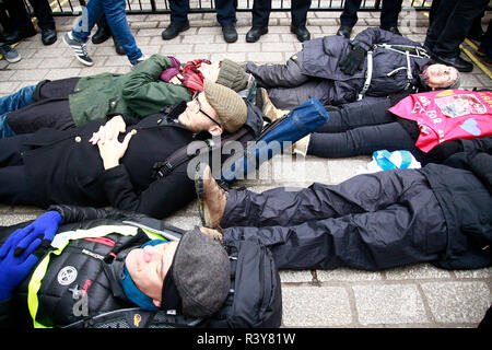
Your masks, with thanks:
[(202, 225), (211, 229), (220, 228), (227, 192), (215, 183), (209, 165), (200, 164), (195, 178), (195, 189), (199, 199), (198, 210)]

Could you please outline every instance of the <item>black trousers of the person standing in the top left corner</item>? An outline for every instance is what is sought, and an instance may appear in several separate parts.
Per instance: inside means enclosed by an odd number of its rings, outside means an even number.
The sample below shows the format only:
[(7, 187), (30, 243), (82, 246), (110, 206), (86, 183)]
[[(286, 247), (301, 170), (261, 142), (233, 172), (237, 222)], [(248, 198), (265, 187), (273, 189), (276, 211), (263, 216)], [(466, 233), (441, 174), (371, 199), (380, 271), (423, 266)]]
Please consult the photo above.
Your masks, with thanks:
[[(16, 30), (28, 31), (33, 28), (31, 15), (22, 0), (4, 0), (3, 2), (11, 15), (11, 23), (15, 25)], [(39, 27), (42, 30), (55, 30), (55, 19), (48, 0), (30, 0), (30, 3), (33, 7), (34, 15), (39, 21)]]

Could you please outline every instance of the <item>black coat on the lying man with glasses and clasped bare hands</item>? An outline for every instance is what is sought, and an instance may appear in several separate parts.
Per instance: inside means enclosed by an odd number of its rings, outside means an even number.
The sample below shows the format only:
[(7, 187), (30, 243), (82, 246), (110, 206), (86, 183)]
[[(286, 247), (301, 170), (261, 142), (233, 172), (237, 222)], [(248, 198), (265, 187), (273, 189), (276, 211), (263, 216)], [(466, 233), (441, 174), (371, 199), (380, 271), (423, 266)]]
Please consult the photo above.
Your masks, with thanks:
[[(180, 107), (179, 107), (180, 106)], [(26, 145), (24, 164), (33, 205), (113, 206), (162, 218), (195, 198), (186, 164), (165, 178), (151, 177), (155, 162), (194, 140), (192, 132), (174, 122), (183, 105), (128, 126), (136, 129), (120, 165), (105, 171), (98, 148), (89, 139), (98, 121), (69, 130), (42, 129)], [(122, 135), (121, 135), (122, 137)]]

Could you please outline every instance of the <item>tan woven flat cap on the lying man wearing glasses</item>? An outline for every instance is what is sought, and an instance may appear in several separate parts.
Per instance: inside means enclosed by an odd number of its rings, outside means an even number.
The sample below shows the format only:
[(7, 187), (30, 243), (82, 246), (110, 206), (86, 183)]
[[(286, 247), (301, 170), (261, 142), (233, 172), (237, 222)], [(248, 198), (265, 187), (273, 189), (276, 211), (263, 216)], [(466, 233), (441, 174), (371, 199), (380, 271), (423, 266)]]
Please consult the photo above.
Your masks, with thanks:
[(246, 122), (246, 103), (236, 92), (209, 80), (203, 81), (203, 91), (225, 131), (234, 132)]

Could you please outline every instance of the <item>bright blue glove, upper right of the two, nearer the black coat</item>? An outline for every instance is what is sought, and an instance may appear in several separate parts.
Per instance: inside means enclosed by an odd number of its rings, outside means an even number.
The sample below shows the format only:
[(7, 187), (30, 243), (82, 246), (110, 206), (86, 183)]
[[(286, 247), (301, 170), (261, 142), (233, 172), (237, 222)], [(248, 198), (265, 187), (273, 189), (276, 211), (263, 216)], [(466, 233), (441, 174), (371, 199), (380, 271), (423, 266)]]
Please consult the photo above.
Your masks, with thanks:
[(15, 248), (14, 255), (20, 256), (24, 253), (28, 242), (33, 238), (42, 236), (43, 241), (52, 241), (55, 233), (57, 233), (58, 225), (61, 222), (61, 215), (58, 211), (47, 211), (37, 218), (32, 224), (21, 229), (25, 236), (24, 241), (21, 241)]

